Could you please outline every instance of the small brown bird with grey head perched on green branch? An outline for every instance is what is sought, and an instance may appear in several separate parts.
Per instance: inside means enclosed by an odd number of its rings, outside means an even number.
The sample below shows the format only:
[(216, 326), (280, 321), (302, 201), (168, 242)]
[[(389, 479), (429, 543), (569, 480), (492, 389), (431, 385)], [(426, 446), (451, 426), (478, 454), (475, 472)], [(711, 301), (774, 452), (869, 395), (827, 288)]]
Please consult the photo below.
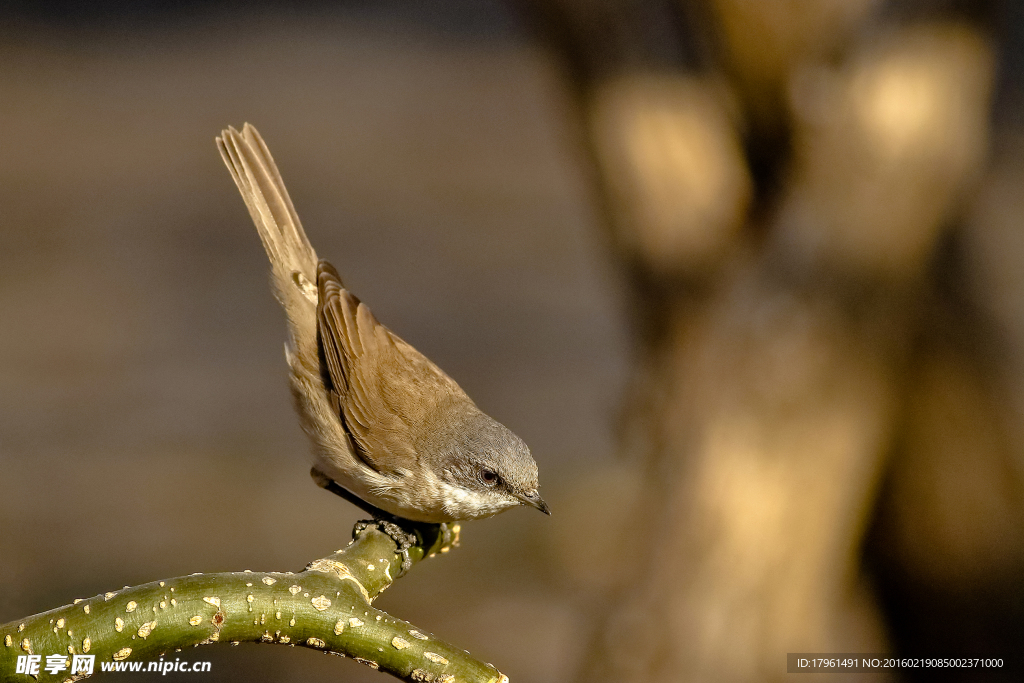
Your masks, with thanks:
[(518, 505), (550, 514), (526, 444), (378, 323), (334, 266), (317, 260), (256, 129), (228, 128), (217, 146), (288, 316), (285, 357), (317, 483), (354, 495), (371, 511), (420, 522), (489, 517)]

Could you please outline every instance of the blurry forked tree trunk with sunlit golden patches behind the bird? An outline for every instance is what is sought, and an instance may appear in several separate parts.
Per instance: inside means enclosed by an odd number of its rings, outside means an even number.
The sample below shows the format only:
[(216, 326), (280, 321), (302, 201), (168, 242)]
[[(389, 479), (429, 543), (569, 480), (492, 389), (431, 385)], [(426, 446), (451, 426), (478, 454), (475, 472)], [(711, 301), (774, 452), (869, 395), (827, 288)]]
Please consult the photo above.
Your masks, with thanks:
[(877, 4), (526, 3), (575, 87), (641, 349), (645, 528), (581, 681), (888, 648), (860, 549), (993, 66), (964, 23), (866, 31)]

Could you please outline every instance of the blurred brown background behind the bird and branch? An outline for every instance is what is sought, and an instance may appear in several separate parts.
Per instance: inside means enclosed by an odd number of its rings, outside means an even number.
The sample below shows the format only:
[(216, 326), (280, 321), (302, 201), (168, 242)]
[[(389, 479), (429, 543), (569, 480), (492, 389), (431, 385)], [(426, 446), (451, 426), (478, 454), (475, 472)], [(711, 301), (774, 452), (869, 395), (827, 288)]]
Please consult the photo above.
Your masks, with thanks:
[(1009, 0), (4, 5), (0, 622), (347, 541), (213, 144), (249, 121), (554, 509), (384, 609), (519, 682), (1020, 664), (1022, 42)]

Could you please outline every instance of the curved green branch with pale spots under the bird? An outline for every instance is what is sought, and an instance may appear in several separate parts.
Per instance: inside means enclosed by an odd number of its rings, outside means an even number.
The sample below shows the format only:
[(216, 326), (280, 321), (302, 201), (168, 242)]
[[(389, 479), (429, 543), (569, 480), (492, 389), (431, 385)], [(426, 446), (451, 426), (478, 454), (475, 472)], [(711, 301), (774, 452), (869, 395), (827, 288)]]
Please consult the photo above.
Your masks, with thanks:
[[(458, 543), (458, 525), (447, 540), (435, 524), (407, 526), (417, 538), (409, 549), (414, 564)], [(252, 642), (350, 656), (407, 681), (507, 683), (494, 667), (372, 606), (401, 572), (397, 550), (371, 525), (299, 573), (191, 574), (76, 600), (0, 625), (0, 678), (77, 680), (73, 654), (95, 655), (98, 673), (104, 661), (155, 661), (188, 645)], [(38, 677), (14, 673), (26, 654), (42, 655)], [(50, 654), (69, 655), (68, 668), (47, 673)]]

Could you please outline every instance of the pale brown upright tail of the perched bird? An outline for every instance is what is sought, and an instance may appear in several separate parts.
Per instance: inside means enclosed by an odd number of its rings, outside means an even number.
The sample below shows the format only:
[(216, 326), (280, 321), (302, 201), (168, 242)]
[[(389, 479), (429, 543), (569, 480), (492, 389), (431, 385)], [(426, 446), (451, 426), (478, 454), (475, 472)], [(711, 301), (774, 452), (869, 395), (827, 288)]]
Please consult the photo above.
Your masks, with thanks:
[(271, 281), (285, 307), (292, 347), (299, 357), (315, 358), (316, 252), (285, 189), (266, 143), (248, 123), (227, 128), (217, 138), (220, 156), (231, 172), (270, 259)]

